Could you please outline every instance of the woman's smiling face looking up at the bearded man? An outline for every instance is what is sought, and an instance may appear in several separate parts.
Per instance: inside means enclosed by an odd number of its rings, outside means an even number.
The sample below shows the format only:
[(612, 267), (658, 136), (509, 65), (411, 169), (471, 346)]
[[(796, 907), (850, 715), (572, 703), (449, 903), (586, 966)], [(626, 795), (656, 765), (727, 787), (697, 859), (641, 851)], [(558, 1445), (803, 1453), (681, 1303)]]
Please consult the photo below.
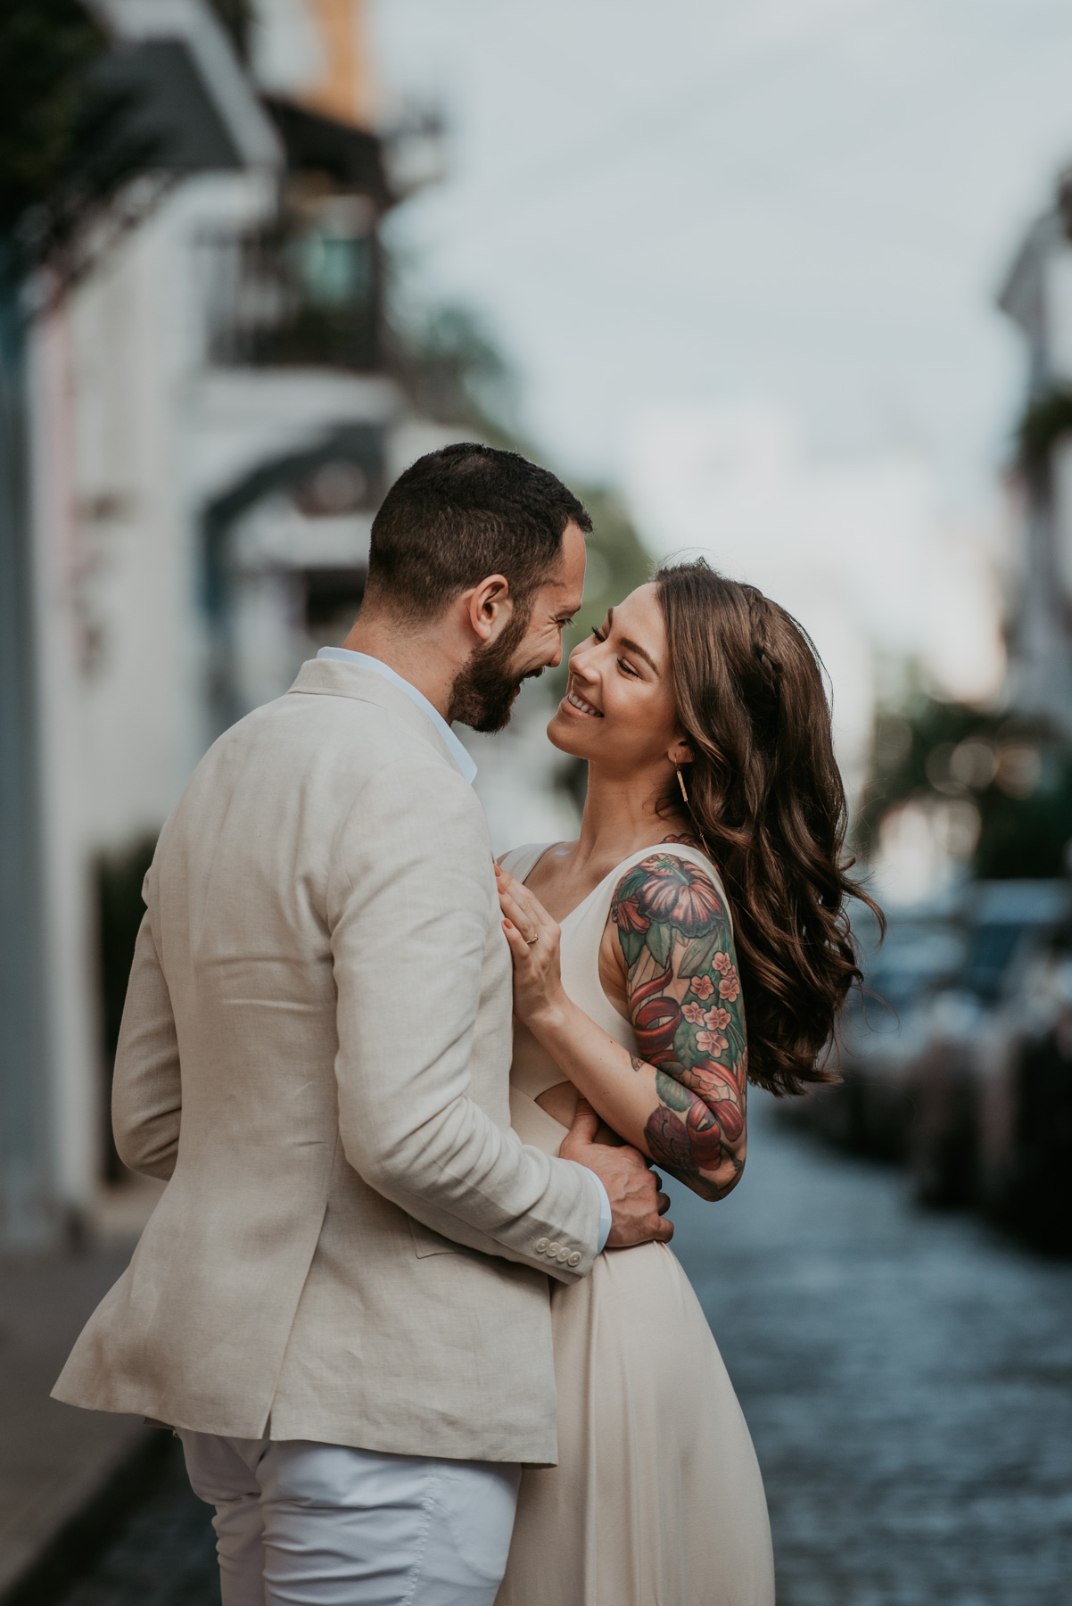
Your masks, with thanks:
[(547, 736), (576, 758), (629, 772), (687, 763), (669, 679), (666, 623), (653, 585), (610, 609), (570, 654), (570, 686)]

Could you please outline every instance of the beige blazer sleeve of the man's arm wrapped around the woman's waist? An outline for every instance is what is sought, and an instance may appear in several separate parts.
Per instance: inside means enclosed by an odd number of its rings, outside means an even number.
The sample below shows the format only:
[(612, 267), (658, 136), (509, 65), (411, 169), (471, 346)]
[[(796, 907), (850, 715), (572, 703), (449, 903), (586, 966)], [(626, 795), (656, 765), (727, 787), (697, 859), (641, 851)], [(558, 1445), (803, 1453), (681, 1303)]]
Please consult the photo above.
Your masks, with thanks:
[(469, 1095), (485, 949), (499, 919), (472, 789), (440, 764), (388, 766), (363, 789), (335, 866), (327, 914), (347, 1160), (457, 1243), (560, 1282), (587, 1275), (600, 1224), (594, 1176), (525, 1147)]

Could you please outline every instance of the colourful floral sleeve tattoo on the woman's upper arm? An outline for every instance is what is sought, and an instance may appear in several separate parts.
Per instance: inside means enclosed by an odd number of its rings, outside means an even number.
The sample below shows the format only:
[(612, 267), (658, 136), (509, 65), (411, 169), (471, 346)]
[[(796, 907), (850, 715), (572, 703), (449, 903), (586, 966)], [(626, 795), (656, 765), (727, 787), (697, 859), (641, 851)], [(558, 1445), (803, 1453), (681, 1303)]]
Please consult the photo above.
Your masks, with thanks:
[(619, 882), (611, 919), (637, 1050), (656, 1073), (648, 1153), (695, 1192), (722, 1198), (745, 1166), (748, 1079), (729, 914), (706, 870), (655, 851)]

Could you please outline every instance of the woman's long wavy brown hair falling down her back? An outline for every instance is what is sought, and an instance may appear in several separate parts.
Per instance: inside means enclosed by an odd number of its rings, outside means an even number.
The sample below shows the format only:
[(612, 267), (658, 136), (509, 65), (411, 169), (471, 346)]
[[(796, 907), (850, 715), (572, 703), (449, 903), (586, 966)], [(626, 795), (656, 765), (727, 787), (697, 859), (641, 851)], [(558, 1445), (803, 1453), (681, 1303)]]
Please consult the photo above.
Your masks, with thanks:
[[(660, 569), (688, 809), (733, 912), (749, 1079), (836, 1081), (820, 1057), (860, 983), (846, 898), (846, 795), (818, 654), (785, 609), (700, 559)], [(674, 805), (680, 809), (677, 784)], [(671, 800), (668, 798), (668, 806)]]

